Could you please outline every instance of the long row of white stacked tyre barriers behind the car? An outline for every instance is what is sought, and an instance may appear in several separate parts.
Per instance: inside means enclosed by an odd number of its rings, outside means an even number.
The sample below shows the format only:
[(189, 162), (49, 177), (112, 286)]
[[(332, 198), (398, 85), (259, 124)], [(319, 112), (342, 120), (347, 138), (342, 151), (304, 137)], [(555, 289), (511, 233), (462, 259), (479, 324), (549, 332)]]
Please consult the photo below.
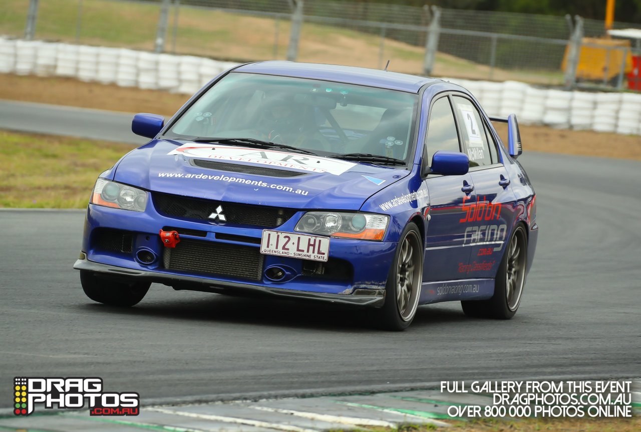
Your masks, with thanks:
[[(121, 87), (193, 94), (237, 65), (196, 56), (0, 37), (0, 73), (64, 76)], [(641, 94), (567, 92), (526, 83), (444, 78), (467, 88), (485, 112), (521, 124), (641, 135)]]

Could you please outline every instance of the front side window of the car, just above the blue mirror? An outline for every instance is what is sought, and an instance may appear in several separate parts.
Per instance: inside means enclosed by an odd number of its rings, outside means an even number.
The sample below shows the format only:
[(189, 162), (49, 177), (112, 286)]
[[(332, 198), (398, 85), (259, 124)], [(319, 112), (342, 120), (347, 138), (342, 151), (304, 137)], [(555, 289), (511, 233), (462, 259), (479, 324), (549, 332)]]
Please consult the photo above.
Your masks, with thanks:
[(432, 164), (432, 156), (439, 150), (461, 151), (456, 133), (454, 113), (447, 96), (441, 97), (432, 105), (429, 112), (428, 136), (425, 139), (428, 151), (428, 163)]

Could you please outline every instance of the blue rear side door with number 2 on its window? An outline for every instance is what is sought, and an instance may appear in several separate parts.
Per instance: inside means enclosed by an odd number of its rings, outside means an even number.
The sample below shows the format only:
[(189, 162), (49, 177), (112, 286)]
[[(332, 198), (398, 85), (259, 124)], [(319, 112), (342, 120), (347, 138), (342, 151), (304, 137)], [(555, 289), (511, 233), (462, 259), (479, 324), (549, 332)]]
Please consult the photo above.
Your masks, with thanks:
[(514, 218), (510, 176), (500, 160), (492, 129), (478, 106), (463, 94), (453, 94), (451, 99), (463, 150), (470, 158), (469, 174), (476, 195), (463, 204), (463, 242), (470, 249), (470, 262), (462, 270), (468, 278), (494, 278)]

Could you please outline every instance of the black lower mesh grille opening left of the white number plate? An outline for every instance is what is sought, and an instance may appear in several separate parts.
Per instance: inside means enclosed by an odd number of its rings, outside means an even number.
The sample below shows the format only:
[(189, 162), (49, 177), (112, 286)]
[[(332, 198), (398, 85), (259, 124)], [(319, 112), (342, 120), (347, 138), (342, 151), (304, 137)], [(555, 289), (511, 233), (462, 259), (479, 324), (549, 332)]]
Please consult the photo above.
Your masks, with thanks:
[(258, 281), (263, 274), (263, 255), (258, 247), (181, 239), (173, 249), (165, 247), (167, 270)]

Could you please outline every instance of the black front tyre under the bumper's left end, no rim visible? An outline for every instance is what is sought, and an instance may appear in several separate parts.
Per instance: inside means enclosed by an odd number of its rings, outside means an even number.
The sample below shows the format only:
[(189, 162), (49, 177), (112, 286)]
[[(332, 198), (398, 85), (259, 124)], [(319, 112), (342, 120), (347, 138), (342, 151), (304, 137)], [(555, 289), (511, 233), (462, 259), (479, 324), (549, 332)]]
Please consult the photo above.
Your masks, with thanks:
[(87, 270), (80, 270), (80, 283), (87, 297), (93, 301), (121, 307), (138, 304), (151, 285), (150, 282), (119, 282), (103, 279)]

